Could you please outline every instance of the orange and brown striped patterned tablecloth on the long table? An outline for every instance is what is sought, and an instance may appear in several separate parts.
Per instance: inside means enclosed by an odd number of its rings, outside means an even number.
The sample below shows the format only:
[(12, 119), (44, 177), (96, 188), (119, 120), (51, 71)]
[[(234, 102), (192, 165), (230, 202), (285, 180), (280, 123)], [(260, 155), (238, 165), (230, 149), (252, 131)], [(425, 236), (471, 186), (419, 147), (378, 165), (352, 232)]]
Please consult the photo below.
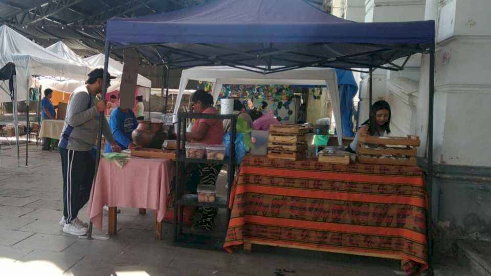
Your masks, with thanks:
[(224, 248), (278, 245), (427, 265), (426, 191), (417, 167), (245, 156)]

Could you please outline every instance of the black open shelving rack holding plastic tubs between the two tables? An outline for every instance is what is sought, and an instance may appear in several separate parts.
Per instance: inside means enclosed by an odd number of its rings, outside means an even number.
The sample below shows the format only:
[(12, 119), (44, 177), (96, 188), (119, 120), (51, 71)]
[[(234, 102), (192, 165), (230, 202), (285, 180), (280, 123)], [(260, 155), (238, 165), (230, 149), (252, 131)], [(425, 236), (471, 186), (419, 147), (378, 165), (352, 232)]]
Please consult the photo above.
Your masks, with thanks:
[[(208, 160), (208, 159), (194, 159), (186, 157), (186, 131), (181, 133), (182, 129), (187, 128), (187, 121), (190, 119), (217, 119), (217, 120), (231, 120), (231, 139), (229, 154), (224, 160)], [(235, 176), (235, 137), (237, 116), (234, 114), (220, 115), (220, 114), (201, 114), (201, 113), (179, 113), (177, 116), (177, 149), (176, 149), (176, 170), (175, 170), (175, 196), (174, 196), (174, 245), (183, 247), (192, 247), (199, 249), (209, 250), (223, 250), (223, 244), (225, 242), (225, 231), (223, 237), (218, 238), (210, 235), (197, 235), (184, 232), (184, 205), (202, 206), (202, 207), (214, 207), (219, 209), (227, 209), (226, 221), (230, 219), (229, 199), (230, 191), (232, 189), (232, 182)], [(181, 144), (182, 143), (182, 144)], [(215, 202), (198, 202), (198, 197), (195, 194), (185, 194), (182, 192), (184, 187), (185, 167), (189, 163), (202, 163), (202, 164), (223, 164), (228, 165), (227, 170), (227, 195), (216, 196)], [(226, 227), (227, 229), (227, 227)]]

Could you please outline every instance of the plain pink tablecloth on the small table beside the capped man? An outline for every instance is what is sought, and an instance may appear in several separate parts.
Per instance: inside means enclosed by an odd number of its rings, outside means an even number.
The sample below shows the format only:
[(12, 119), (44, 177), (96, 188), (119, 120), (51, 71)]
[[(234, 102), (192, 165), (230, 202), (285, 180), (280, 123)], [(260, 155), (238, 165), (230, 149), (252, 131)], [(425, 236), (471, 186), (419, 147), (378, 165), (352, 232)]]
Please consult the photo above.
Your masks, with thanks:
[(154, 209), (157, 219), (162, 221), (173, 177), (172, 160), (132, 157), (120, 169), (113, 161), (101, 158), (87, 213), (99, 229), (102, 229), (104, 205)]

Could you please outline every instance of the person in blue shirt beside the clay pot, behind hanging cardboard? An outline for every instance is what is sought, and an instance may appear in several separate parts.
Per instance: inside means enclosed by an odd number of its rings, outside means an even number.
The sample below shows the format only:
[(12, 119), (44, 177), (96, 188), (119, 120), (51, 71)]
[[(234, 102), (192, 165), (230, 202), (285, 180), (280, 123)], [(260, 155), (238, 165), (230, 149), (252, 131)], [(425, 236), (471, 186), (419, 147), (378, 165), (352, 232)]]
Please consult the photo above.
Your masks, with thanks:
[[(116, 107), (109, 116), (109, 127), (113, 133), (115, 141), (121, 149), (131, 149), (136, 145), (131, 140), (131, 132), (138, 126), (135, 113), (129, 108)], [(105, 147), (105, 152), (111, 152), (109, 144)]]

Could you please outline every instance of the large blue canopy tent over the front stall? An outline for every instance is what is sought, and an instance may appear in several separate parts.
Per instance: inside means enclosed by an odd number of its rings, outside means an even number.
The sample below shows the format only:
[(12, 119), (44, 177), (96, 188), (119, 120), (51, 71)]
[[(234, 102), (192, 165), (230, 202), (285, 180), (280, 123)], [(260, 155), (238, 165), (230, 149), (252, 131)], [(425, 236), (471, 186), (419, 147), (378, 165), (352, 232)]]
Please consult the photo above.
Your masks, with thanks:
[[(312, 66), (369, 73), (375, 68), (403, 70), (411, 55), (429, 54), (427, 162), (432, 179), (434, 37), (433, 20), (359, 23), (302, 0), (215, 0), (168, 13), (108, 20), (104, 69), (107, 72), (111, 49), (133, 48), (150, 64), (164, 65), (168, 89), (168, 71), (173, 68), (228, 65), (273, 74)], [(399, 58), (405, 61), (394, 62)], [(98, 145), (100, 149), (100, 140)], [(431, 198), (431, 184), (427, 189)], [(431, 231), (431, 224), (428, 227)]]

